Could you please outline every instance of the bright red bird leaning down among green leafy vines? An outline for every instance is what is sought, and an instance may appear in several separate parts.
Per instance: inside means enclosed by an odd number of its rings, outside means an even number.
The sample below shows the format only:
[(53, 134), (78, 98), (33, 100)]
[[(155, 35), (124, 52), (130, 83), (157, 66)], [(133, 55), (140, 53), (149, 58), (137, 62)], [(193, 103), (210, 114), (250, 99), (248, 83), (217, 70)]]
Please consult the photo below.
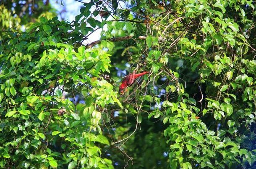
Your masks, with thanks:
[(136, 78), (143, 76), (147, 73), (149, 73), (149, 72), (142, 72), (142, 73), (135, 74), (135, 71), (133, 71), (133, 73), (128, 74), (128, 76), (126, 76), (123, 79), (122, 84), (119, 86), (119, 93), (123, 94), (124, 89), (127, 88), (127, 86), (131, 86), (134, 83), (134, 80)]

